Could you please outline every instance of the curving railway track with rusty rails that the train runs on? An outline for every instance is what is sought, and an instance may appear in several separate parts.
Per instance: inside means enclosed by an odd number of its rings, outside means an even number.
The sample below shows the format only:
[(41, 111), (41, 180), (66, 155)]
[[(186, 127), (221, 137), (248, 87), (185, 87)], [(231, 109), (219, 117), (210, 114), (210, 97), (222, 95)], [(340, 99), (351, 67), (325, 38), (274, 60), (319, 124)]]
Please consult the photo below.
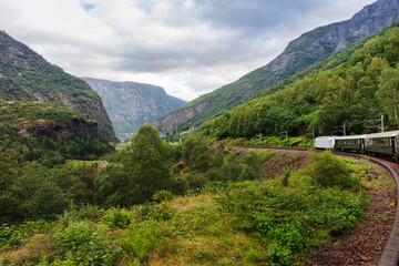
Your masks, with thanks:
[[(238, 146), (236, 146), (238, 147)], [(242, 147), (242, 146), (241, 146)], [(309, 151), (310, 149), (300, 149), (300, 147), (265, 147), (265, 146), (248, 146), (254, 149), (265, 149), (265, 150), (286, 150), (286, 151)], [(360, 155), (355, 153), (346, 152), (334, 152), (337, 155), (345, 155), (351, 157), (368, 157), (370, 162), (379, 164), (380, 166), (387, 168), (395, 178), (397, 185), (397, 209), (393, 226), (389, 235), (386, 247), (383, 248), (382, 255), (378, 263), (378, 266), (396, 266), (399, 265), (399, 164), (389, 158), (381, 158), (369, 155)]]

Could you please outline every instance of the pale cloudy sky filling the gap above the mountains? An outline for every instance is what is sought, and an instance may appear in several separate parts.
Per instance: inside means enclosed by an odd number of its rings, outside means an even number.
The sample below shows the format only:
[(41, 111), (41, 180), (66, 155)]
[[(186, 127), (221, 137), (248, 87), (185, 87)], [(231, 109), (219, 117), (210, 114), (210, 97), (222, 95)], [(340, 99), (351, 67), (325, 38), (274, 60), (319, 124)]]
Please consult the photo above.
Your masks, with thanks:
[(0, 30), (76, 76), (193, 100), (375, 0), (0, 0)]

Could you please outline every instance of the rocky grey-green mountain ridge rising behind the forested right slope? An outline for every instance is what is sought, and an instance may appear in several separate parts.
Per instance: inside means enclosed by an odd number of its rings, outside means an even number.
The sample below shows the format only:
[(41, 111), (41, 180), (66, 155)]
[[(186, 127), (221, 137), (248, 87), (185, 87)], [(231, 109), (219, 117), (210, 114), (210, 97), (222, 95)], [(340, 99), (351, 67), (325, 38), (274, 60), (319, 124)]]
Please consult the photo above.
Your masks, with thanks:
[(185, 106), (151, 122), (165, 134), (197, 126), (226, 110), (253, 99), (260, 91), (320, 62), (345, 47), (390, 25), (399, 14), (399, 0), (379, 0), (351, 19), (317, 28), (291, 41), (276, 59), (239, 80), (202, 95)]

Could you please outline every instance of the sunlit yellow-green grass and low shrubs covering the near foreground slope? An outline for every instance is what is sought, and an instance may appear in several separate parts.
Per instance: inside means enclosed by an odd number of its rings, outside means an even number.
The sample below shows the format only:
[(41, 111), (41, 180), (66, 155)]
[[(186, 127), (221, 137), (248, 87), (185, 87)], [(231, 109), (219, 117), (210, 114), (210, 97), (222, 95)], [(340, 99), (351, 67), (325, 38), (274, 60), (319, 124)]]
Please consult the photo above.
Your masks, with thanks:
[[(232, 152), (219, 153), (224, 165)], [(158, 191), (126, 208), (72, 206), (53, 221), (3, 225), (0, 264), (306, 265), (308, 248), (357, 225), (367, 171), (367, 162), (311, 153), (306, 167), (275, 180), (214, 181), (185, 196)]]

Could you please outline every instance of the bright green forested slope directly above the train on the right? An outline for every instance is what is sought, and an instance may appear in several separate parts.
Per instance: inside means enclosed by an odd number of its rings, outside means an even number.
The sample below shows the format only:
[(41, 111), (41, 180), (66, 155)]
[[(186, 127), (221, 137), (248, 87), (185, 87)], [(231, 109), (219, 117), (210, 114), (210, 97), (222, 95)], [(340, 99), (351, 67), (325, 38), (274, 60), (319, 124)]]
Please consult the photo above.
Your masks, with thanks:
[[(376, 121), (381, 115), (386, 130), (398, 129), (398, 24), (348, 51), (318, 65), (320, 70), (336, 65), (330, 70), (316, 72), (273, 95), (227, 111), (203, 124), (201, 131), (219, 137), (249, 137), (285, 131), (299, 135), (315, 127), (323, 135), (334, 133), (345, 123), (348, 134), (365, 133), (369, 130), (366, 121)], [(344, 54), (348, 57), (342, 58)]]

